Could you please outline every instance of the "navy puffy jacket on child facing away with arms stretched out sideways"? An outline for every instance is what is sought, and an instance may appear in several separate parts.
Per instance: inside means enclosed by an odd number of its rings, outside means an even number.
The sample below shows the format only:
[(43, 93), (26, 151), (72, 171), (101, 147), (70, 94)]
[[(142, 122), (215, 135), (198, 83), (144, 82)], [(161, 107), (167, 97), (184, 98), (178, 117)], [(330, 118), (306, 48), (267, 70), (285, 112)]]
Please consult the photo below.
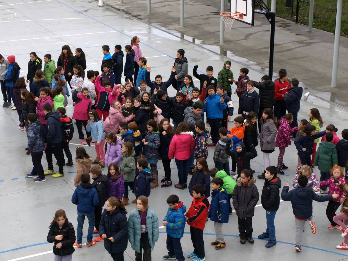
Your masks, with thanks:
[(324, 202), (332, 199), (332, 195), (319, 196), (308, 187), (297, 187), (288, 190), (288, 186), (283, 187), (282, 199), (291, 201), (292, 212), (299, 219), (308, 219), (313, 215), (313, 200)]

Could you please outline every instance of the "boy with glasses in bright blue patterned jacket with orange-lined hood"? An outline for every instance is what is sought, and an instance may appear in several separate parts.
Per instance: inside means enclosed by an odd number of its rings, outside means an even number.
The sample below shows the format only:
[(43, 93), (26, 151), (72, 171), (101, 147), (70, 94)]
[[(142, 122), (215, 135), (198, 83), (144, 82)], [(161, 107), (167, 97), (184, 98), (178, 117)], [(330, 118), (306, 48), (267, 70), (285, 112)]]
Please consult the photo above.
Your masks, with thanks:
[(179, 201), (176, 195), (170, 195), (167, 198), (168, 211), (163, 220), (163, 226), (167, 232), (167, 250), (168, 255), (163, 256), (163, 259), (185, 260), (182, 252), (180, 239), (184, 236), (185, 229), (185, 212), (186, 206)]

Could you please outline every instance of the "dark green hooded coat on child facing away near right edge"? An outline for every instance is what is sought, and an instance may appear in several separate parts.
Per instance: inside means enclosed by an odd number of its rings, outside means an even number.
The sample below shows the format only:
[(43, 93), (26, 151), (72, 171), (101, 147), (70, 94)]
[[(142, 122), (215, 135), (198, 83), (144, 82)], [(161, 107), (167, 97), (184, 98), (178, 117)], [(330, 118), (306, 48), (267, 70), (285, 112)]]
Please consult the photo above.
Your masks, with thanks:
[(314, 166), (322, 172), (330, 172), (334, 164), (338, 164), (337, 149), (331, 142), (319, 143), (319, 148), (314, 158)]

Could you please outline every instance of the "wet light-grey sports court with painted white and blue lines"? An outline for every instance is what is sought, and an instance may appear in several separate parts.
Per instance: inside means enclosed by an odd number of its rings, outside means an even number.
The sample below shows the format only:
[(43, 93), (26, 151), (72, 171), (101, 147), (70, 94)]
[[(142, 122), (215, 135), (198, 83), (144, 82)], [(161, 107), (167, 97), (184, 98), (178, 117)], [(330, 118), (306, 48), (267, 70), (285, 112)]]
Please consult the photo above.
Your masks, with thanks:
[[(102, 61), (102, 45), (121, 45), (122, 48), (130, 44), (130, 39), (137, 35), (141, 42), (143, 56), (148, 59), (148, 65), (152, 67), (151, 77), (161, 74), (165, 81), (171, 72), (176, 50), (185, 50), (188, 58), (189, 74), (194, 65), (199, 65), (200, 73), (205, 73), (208, 65), (214, 67), (214, 76), (217, 77), (226, 57), (213, 53), (198, 45), (177, 38), (164, 31), (151, 27), (148, 24), (129, 17), (107, 7), (98, 8), (94, 1), (72, 0), (5, 0), (0, 2), (0, 23), (2, 37), (0, 39), (1, 54), (4, 57), (15, 55), (16, 62), (21, 66), (21, 76), (26, 76), (29, 53), (35, 51), (39, 57), (46, 53), (52, 55), (57, 61), (61, 47), (69, 44), (72, 49), (81, 47), (86, 53), (87, 70), (99, 70)], [(231, 70), (235, 78), (238, 77), (239, 69), (243, 64), (232, 61)], [(286, 66), (285, 66), (286, 67)], [(260, 80), (264, 74), (249, 68), (250, 79)], [(199, 83), (198, 81), (194, 81)], [(300, 85), (301, 86), (301, 85)], [(234, 85), (234, 87), (236, 87)], [(169, 96), (175, 95), (175, 90), (169, 88)], [(232, 95), (235, 112), (238, 110), (238, 97)], [(309, 95), (302, 97), (301, 111), (298, 119), (308, 119), (309, 109), (316, 107), (321, 112), (324, 126), (333, 123), (340, 131), (345, 128), (348, 116), (347, 111)], [(72, 100), (66, 114), (72, 116)], [(3, 237), (0, 246), (0, 260), (53, 260), (53, 245), (47, 243), (46, 237), (49, 231), (49, 223), (52, 221), (57, 209), (64, 209), (69, 221), (77, 227), (76, 205), (71, 203), (74, 190), (73, 178), (76, 166), (64, 166), (64, 177), (53, 178), (46, 176), (46, 182), (34, 183), (32, 179), (26, 179), (26, 173), (32, 169), (30, 156), (25, 154), (26, 135), (18, 129), (17, 112), (10, 108), (0, 107), (0, 136), (1, 146), (1, 169), (0, 172), (0, 220), (2, 222)], [(232, 127), (230, 122), (229, 127)], [(78, 139), (77, 131), (70, 143), (70, 150), (82, 146)], [(340, 134), (339, 134), (340, 136)], [(95, 155), (93, 147), (85, 147), (90, 155)], [(252, 161), (252, 167), (256, 174), (263, 171), (263, 159), (260, 148), (256, 150), (259, 156)], [(209, 148), (209, 155), (213, 155), (214, 147)], [(276, 164), (278, 150), (271, 153), (271, 163)], [(55, 161), (54, 161), (55, 163)], [(282, 184), (292, 183), (297, 163), (296, 149), (292, 144), (286, 149), (284, 163), (289, 166), (284, 176), (280, 176)], [(213, 167), (212, 157), (208, 158), (209, 168)], [(42, 159), (44, 169), (47, 168), (45, 157)], [(54, 164), (54, 166), (56, 166)], [(163, 176), (161, 161), (157, 164), (159, 177)], [(55, 169), (56, 171), (58, 169)], [(103, 174), (106, 174), (104, 169)], [(320, 176), (318, 169), (314, 173)], [(189, 176), (190, 179), (190, 176)], [(176, 183), (178, 177), (176, 166), (172, 160), (172, 181)], [(263, 180), (256, 178), (259, 193), (262, 191)], [(179, 190), (173, 187), (156, 188), (151, 190), (149, 207), (156, 212), (160, 225), (167, 212), (166, 198), (171, 194), (179, 196), (180, 200), (189, 207), (191, 197), (187, 189)], [(129, 195), (133, 200), (134, 196)], [(204, 230), (205, 236), (205, 259), (206, 260), (348, 260), (348, 252), (339, 251), (335, 248), (341, 244), (340, 233), (328, 230), (328, 220), (325, 215), (326, 203), (313, 203), (314, 216), (317, 226), (317, 234), (312, 235), (309, 226), (305, 228), (302, 238), (302, 252), (294, 251), (294, 216), (291, 203), (281, 202), (276, 215), (277, 245), (267, 249), (265, 241), (257, 239), (257, 236), (266, 229), (265, 211), (259, 201), (253, 217), (253, 238), (255, 244), (248, 242), (245, 245), (239, 243), (238, 224), (235, 214), (229, 216), (229, 223), (224, 224), (223, 231), (227, 246), (217, 252), (210, 242), (215, 240), (213, 222), (208, 221)], [(127, 206), (128, 212), (135, 206)], [(186, 234), (182, 238), (184, 254), (192, 252), (192, 243), (189, 235), (189, 227), (185, 227)], [(87, 236), (87, 223), (84, 226), (84, 237)], [(165, 228), (160, 227), (160, 237), (152, 252), (153, 260), (162, 260), (167, 254)], [(86, 239), (83, 239), (86, 243)], [(134, 251), (130, 244), (125, 253), (125, 260), (134, 260)], [(111, 260), (110, 255), (104, 249), (103, 243), (97, 243), (88, 248), (86, 246), (76, 249), (73, 260)]]

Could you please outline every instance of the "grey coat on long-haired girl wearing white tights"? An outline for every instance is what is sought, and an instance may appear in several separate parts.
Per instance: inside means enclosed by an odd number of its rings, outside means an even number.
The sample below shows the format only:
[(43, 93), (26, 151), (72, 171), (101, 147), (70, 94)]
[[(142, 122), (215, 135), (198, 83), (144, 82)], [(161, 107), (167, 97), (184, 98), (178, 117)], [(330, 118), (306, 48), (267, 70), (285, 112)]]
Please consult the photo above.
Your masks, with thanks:
[(260, 147), (263, 150), (274, 150), (276, 148), (277, 128), (274, 120), (266, 119), (261, 124)]

